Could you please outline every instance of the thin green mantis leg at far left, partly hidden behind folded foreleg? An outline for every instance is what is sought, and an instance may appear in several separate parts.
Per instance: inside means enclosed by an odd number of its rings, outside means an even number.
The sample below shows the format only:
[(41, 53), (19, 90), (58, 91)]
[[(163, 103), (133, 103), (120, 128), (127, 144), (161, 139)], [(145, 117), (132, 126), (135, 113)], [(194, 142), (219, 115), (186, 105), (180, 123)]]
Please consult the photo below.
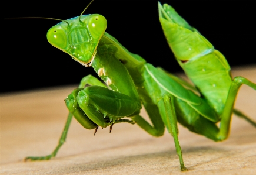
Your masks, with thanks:
[[(84, 88), (85, 85), (98, 85), (101, 87), (106, 87), (104, 83), (102, 83), (101, 81), (99, 81), (97, 78), (95, 78), (94, 76), (88, 75), (85, 76), (84, 78), (82, 78), (80, 84), (79, 84), (79, 88)], [(67, 133), (68, 133), (68, 129), (72, 120), (72, 114), (71, 112), (69, 112), (68, 114), (68, 118), (67, 118), (67, 122), (65, 123), (64, 129), (62, 131), (61, 134), (61, 138), (59, 139), (58, 145), (56, 146), (56, 148), (54, 149), (54, 151), (47, 156), (38, 156), (38, 157), (25, 157), (25, 161), (26, 160), (49, 160), (52, 157), (55, 157), (56, 154), (58, 153), (58, 150), (61, 148), (61, 146), (63, 145), (63, 143), (65, 142), (66, 138), (67, 138)]]

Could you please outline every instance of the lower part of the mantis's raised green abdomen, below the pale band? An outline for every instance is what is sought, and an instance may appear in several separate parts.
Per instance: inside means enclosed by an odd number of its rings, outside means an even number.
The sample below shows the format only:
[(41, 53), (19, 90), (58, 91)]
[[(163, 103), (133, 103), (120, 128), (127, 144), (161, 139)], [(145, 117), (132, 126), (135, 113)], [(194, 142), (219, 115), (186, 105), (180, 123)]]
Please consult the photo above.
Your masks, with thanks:
[(214, 50), (186, 63), (179, 62), (189, 79), (208, 103), (221, 114), (231, 85), (230, 66), (225, 57)]

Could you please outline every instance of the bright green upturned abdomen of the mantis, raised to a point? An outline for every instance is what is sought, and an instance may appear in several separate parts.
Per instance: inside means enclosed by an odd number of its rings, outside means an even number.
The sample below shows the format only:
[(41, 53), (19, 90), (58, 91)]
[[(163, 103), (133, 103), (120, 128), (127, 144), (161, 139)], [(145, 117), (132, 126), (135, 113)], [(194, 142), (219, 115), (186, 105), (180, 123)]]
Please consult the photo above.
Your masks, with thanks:
[(171, 6), (165, 4), (163, 8), (159, 12), (160, 22), (175, 58), (207, 102), (221, 115), (232, 82), (227, 60), (185, 20), (169, 18), (168, 13), (177, 14)]

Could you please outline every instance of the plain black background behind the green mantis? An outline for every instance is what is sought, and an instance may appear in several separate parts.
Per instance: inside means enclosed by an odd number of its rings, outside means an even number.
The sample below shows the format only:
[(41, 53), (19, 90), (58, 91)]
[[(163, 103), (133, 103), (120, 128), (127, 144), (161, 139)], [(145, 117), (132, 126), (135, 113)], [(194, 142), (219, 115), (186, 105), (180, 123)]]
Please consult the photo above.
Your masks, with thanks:
[[(89, 2), (9, 1), (2, 9), (4, 18), (42, 16), (65, 20), (79, 16)], [(256, 63), (253, 1), (161, 1), (167, 2), (225, 55), (231, 67)], [(84, 14), (92, 13), (105, 16), (106, 32), (130, 52), (171, 73), (182, 71), (162, 33), (157, 1), (95, 0)], [(92, 68), (83, 67), (48, 43), (46, 33), (58, 21), (2, 22), (1, 93), (78, 84), (87, 74), (97, 76)]]

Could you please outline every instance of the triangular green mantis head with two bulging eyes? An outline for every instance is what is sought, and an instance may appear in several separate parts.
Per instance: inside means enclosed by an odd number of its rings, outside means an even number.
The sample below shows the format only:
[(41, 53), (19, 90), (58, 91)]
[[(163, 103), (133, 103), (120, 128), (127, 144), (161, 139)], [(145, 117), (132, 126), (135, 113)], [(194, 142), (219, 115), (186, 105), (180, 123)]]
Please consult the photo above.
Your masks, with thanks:
[(106, 28), (107, 20), (104, 16), (82, 15), (53, 26), (47, 32), (47, 39), (52, 46), (88, 66), (94, 59), (97, 45)]

